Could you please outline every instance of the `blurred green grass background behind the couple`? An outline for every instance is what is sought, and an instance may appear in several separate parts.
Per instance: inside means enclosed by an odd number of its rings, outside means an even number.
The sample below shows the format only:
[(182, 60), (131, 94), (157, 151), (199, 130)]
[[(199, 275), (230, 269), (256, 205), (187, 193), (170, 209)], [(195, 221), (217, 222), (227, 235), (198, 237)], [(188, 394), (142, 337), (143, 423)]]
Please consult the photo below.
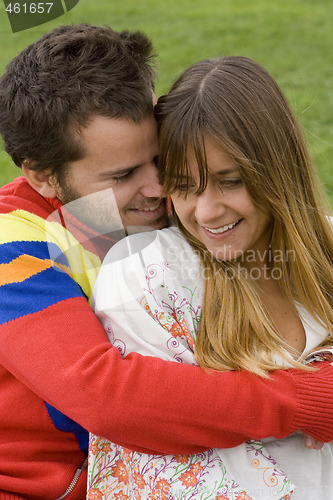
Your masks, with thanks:
[[(332, 0), (80, 0), (58, 19), (18, 33), (1, 1), (0, 72), (44, 32), (77, 22), (145, 31), (158, 54), (158, 95), (203, 58), (244, 55), (261, 63), (299, 117), (333, 202)], [(17, 175), (1, 151), (0, 185)]]

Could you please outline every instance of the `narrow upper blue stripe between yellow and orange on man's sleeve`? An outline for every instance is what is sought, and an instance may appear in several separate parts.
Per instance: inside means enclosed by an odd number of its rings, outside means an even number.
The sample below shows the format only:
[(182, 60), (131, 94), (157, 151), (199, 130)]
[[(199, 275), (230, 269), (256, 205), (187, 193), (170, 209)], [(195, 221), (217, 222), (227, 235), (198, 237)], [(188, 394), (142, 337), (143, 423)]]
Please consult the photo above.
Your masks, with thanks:
[(26, 254), (38, 259), (51, 259), (68, 266), (68, 260), (58, 245), (46, 241), (11, 241), (0, 245), (0, 264), (9, 264), (19, 255)]

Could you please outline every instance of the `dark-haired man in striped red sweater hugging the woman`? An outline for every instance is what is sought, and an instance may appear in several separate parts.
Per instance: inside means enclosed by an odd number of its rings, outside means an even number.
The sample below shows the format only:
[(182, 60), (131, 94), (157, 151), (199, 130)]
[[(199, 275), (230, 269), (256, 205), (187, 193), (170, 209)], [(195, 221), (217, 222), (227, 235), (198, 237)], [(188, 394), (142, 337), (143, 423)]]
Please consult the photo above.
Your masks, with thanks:
[(173, 454), (297, 429), (333, 438), (328, 363), (263, 380), (122, 359), (89, 306), (121, 227), (167, 223), (150, 62), (143, 35), (67, 26), (0, 80), (0, 132), (25, 174), (0, 190), (0, 499), (83, 500), (87, 431)]

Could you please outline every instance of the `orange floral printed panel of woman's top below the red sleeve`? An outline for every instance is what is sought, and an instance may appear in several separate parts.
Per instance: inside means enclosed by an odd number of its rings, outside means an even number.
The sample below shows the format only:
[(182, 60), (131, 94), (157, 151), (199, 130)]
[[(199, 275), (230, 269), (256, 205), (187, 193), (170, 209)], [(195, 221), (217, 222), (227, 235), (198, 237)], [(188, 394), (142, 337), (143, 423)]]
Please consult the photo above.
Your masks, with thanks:
[[(142, 455), (116, 445), (110, 448), (109, 445), (106, 440), (91, 438), (91, 449), (95, 450), (95, 454), (90, 454), (89, 460), (89, 500), (252, 500), (250, 496), (242, 496), (245, 492), (228, 476), (212, 450), (188, 457), (156, 456)], [(208, 483), (207, 477), (214, 467), (216, 477), (213, 483)]]

